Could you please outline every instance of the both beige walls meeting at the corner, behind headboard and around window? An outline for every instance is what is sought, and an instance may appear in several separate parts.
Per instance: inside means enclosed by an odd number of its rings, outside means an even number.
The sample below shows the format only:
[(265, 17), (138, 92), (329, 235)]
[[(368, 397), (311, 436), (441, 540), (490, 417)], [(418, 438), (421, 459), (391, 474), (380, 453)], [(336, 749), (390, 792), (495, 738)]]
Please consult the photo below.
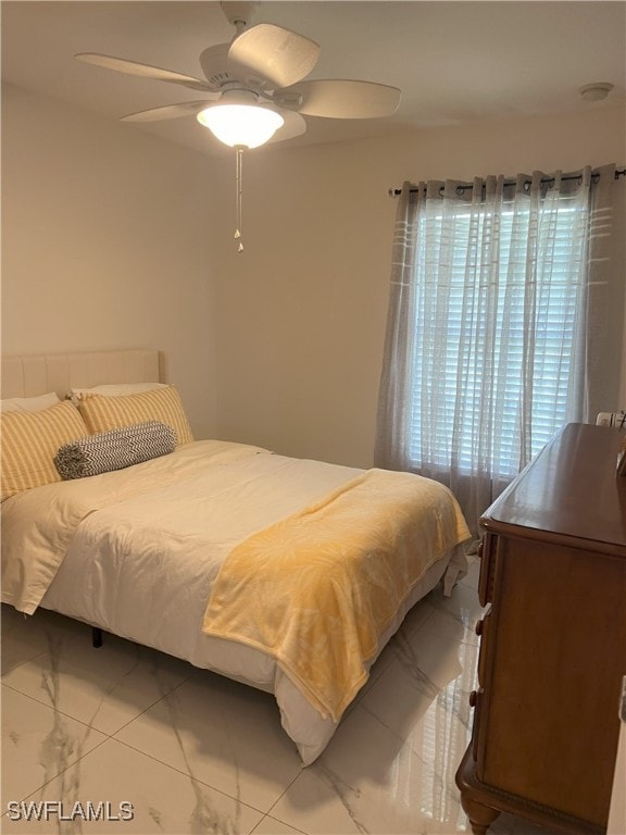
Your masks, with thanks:
[[(200, 155), (11, 88), (3, 116), (4, 351), (158, 347), (199, 437), (361, 466), (387, 315), (388, 188), (626, 162), (624, 111), (596, 108), (267, 147), (245, 159), (237, 253), (231, 151)], [(624, 201), (624, 178), (617, 191)], [(623, 251), (623, 209), (616, 228)]]

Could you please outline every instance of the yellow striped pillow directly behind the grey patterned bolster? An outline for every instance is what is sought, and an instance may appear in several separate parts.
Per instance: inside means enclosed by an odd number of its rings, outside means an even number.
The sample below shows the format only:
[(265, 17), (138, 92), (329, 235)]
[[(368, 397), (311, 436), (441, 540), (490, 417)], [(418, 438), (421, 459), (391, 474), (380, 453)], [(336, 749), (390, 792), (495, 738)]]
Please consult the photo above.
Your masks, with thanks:
[(92, 435), (143, 421), (160, 421), (174, 429), (177, 445), (193, 440), (185, 409), (174, 386), (122, 397), (86, 391), (78, 401), (78, 409)]

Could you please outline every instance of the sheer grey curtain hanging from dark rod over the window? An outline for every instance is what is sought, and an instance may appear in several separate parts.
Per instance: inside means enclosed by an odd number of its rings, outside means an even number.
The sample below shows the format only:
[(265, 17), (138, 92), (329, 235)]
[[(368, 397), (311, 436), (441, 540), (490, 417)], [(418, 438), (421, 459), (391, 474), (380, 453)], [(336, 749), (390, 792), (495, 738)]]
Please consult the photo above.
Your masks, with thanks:
[(402, 188), (376, 465), (447, 484), (474, 532), (554, 432), (616, 402), (614, 184), (606, 165)]

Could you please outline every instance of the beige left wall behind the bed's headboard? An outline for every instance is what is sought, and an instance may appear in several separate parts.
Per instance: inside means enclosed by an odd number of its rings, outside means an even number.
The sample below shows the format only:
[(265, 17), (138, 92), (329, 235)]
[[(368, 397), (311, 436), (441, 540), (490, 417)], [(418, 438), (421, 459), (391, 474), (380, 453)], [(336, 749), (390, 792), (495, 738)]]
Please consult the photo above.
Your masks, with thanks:
[(210, 160), (11, 86), (2, 116), (3, 351), (160, 348), (212, 435)]

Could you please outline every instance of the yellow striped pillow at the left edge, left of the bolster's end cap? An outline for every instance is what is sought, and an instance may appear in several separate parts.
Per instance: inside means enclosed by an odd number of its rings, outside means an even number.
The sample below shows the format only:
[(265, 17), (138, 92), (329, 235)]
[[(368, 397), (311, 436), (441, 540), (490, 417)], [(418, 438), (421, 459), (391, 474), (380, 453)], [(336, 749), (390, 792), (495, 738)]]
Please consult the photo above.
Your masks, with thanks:
[(88, 434), (78, 410), (67, 401), (40, 412), (0, 415), (2, 500), (32, 487), (60, 482), (54, 456), (63, 444)]

